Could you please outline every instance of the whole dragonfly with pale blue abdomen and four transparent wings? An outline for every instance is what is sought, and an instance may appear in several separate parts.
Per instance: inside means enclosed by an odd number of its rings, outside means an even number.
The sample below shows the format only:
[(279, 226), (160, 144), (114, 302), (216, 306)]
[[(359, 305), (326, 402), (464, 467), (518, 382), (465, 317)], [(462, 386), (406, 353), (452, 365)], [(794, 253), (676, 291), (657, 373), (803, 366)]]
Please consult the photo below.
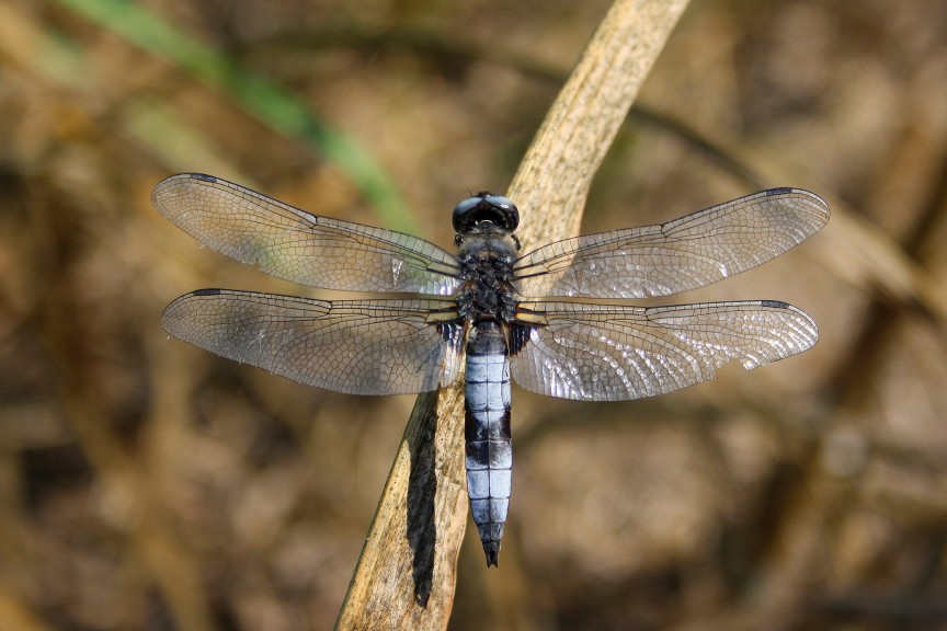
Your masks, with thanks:
[(488, 192), (454, 208), (455, 253), (201, 173), (163, 180), (151, 202), (204, 245), (266, 274), (402, 295), (328, 301), (198, 289), (161, 321), (184, 342), (335, 392), (414, 394), (463, 374), (467, 491), (488, 566), (510, 505), (511, 379), (550, 397), (625, 401), (711, 379), (731, 360), (753, 369), (819, 337), (808, 314), (777, 300), (623, 303), (696, 289), (798, 245), (830, 216), (801, 188), (527, 253), (516, 205)]

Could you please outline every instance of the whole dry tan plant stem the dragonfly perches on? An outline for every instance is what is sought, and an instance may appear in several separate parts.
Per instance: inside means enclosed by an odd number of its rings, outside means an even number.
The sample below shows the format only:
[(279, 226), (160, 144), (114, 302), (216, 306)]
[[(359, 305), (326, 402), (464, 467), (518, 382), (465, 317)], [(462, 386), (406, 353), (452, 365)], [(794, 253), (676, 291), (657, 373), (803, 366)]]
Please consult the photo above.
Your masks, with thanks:
[[(686, 0), (619, 0), (520, 165), (525, 249), (575, 234), (589, 185)], [(336, 629), (444, 629), (467, 523), (463, 383), (411, 414)]]

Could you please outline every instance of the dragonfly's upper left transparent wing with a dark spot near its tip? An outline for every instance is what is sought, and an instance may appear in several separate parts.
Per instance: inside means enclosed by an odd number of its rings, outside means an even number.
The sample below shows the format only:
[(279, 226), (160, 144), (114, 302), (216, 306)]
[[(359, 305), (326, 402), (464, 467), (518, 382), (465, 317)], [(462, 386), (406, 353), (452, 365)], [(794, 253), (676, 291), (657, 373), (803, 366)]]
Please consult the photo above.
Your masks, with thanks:
[(172, 175), (151, 203), (208, 248), (294, 283), (435, 296), (460, 285), (457, 259), (433, 243), (310, 215), (219, 177)]

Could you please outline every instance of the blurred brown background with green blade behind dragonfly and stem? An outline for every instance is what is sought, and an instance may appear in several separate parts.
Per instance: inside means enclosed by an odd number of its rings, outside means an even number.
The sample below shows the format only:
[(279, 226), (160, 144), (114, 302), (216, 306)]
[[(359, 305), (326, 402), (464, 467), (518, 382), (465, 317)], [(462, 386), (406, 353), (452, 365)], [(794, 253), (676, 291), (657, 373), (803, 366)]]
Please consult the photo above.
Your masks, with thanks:
[[(180, 171), (443, 246), (503, 191), (609, 3), (0, 3), (0, 628), (330, 628), (411, 397), (169, 339)], [(758, 188), (833, 207), (696, 300), (789, 301), (810, 352), (659, 399), (514, 392), (511, 523), (450, 629), (947, 629), (947, 3), (692, 3), (583, 230)], [(541, 208), (521, 208), (523, 221)], [(311, 294), (323, 295), (323, 294)]]

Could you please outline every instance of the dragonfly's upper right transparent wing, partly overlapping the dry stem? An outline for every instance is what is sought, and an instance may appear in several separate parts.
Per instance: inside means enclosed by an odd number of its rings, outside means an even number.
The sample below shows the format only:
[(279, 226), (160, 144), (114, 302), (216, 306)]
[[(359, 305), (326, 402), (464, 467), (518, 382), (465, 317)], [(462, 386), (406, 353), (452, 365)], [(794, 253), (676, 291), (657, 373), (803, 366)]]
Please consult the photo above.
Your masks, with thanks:
[(647, 298), (696, 289), (798, 245), (829, 220), (821, 197), (772, 188), (674, 221), (544, 245), (514, 265), (521, 296)]

